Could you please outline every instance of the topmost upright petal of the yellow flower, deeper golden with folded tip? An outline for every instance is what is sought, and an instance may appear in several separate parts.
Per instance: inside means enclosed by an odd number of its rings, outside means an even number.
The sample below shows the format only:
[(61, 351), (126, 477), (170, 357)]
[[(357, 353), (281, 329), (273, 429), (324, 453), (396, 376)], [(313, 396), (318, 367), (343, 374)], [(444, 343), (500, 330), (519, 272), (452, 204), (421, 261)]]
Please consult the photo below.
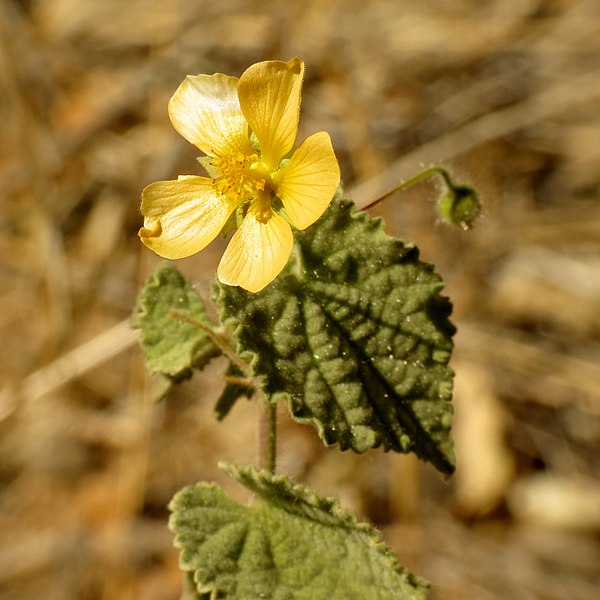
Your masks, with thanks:
[(303, 76), (299, 58), (269, 60), (246, 69), (238, 83), (242, 112), (258, 138), (263, 160), (273, 170), (296, 141)]

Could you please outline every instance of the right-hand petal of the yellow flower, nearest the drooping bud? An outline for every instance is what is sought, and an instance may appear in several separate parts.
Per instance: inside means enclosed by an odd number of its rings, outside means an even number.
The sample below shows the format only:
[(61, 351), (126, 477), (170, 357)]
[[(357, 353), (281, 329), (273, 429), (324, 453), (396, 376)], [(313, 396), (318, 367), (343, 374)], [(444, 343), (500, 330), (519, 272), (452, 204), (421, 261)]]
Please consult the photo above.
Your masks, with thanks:
[(294, 227), (306, 229), (322, 214), (340, 183), (331, 139), (321, 131), (306, 138), (276, 174), (277, 195)]

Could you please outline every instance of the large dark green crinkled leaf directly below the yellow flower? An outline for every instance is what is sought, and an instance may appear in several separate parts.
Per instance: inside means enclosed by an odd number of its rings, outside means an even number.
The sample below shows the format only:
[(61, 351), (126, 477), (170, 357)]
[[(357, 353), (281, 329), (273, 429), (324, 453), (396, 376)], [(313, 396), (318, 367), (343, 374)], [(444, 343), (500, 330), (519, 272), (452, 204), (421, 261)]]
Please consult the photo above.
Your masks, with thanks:
[(221, 318), (267, 396), (327, 444), (415, 452), (454, 470), (451, 305), (417, 248), (334, 201), (258, 294), (216, 284)]

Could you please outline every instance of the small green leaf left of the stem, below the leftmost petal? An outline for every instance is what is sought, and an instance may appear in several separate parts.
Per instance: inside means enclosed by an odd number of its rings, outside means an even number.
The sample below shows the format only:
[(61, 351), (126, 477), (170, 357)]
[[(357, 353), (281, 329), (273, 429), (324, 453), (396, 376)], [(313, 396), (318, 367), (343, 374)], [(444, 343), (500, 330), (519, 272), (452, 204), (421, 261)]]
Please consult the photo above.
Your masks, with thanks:
[(131, 321), (141, 330), (151, 373), (181, 381), (220, 354), (210, 336), (195, 324), (212, 326), (202, 299), (169, 263), (161, 263), (146, 281)]

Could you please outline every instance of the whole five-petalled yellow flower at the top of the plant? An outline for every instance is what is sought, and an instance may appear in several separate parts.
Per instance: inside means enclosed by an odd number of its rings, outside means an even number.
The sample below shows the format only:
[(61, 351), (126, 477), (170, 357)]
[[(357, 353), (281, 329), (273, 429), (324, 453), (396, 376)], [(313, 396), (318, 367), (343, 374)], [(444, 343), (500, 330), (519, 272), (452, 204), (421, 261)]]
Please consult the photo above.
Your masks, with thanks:
[[(239, 79), (221, 73), (185, 79), (169, 116), (207, 155), (200, 160), (212, 177), (185, 175), (144, 189), (139, 235), (148, 248), (170, 259), (190, 256), (226, 224), (229, 229), (233, 215), (241, 223), (219, 264), (219, 280), (257, 292), (277, 277), (293, 246), (288, 221), (297, 229), (314, 223), (340, 179), (327, 133), (291, 152), (303, 74), (304, 63), (293, 58), (257, 63)], [(281, 202), (274, 207), (275, 198)]]

